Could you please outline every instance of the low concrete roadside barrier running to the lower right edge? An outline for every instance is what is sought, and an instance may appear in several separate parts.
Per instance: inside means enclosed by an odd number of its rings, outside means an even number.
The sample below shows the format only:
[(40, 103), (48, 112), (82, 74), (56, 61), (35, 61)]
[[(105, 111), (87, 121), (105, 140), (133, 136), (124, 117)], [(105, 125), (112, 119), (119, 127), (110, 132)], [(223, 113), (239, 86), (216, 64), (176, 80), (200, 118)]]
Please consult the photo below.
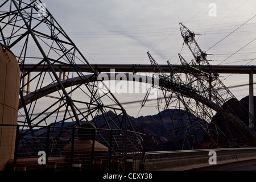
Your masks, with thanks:
[(183, 171), (209, 167), (210, 151), (216, 152), (217, 165), (256, 159), (256, 148), (147, 152), (142, 166), (144, 171)]

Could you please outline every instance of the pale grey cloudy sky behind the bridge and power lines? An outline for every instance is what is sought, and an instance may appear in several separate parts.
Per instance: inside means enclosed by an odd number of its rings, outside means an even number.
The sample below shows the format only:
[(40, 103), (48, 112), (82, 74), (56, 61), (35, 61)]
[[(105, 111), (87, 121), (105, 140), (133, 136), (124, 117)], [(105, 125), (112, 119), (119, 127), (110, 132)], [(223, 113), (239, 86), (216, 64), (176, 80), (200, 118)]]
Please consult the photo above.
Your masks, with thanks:
[[(254, 65), (256, 61), (254, 0), (42, 2), (90, 64), (150, 64), (148, 51), (159, 64), (166, 64), (167, 60), (179, 64), (178, 53), (191, 60), (191, 52), (183, 46), (180, 22), (200, 34), (196, 35), (197, 43), (207, 50), (213, 65)], [(247, 83), (249, 76), (221, 75), (221, 80), (226, 86), (233, 86)], [(249, 92), (248, 86), (231, 91), (239, 99)], [(144, 98), (144, 94), (115, 96), (121, 103)], [(155, 102), (139, 112), (140, 103), (124, 107), (133, 116), (158, 112)]]

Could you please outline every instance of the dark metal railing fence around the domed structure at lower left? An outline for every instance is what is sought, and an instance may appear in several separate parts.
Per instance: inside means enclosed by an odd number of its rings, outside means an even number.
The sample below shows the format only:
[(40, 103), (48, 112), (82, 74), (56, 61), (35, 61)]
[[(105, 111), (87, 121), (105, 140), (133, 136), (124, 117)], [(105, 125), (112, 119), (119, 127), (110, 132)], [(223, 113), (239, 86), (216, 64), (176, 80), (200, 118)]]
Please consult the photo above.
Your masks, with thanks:
[[(5, 127), (12, 127), (13, 135), (16, 135), (14, 154), (7, 161), (6, 170), (26, 164), (27, 171), (50, 168), (138, 171), (144, 156), (144, 135), (129, 130), (54, 126), (31, 128), (19, 125), (0, 127), (2, 131)], [(3, 135), (1, 138), (3, 145)]]

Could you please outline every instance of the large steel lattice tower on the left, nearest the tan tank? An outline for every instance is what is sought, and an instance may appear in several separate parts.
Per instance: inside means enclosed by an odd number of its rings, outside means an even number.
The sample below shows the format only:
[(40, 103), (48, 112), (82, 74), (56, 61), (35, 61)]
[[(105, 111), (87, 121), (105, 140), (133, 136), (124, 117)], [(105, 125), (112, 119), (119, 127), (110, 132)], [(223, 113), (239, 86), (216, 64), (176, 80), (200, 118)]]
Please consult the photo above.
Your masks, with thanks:
[[(76, 127), (92, 122), (98, 128), (133, 130), (110, 90), (105, 87), (100, 93), (97, 81), (90, 81), (98, 76), (97, 71), (40, 0), (1, 1), (0, 19), (0, 43), (14, 53), (21, 68), (18, 124), (30, 126), (23, 135), (33, 135), (39, 125), (64, 126), (65, 122)], [(25, 64), (36, 65), (25, 70)], [(81, 70), (77, 64), (87, 67)], [(34, 72), (42, 65), (43, 71)], [(56, 71), (57, 65), (66, 66), (67, 72)], [(52, 88), (57, 92), (51, 93)], [(101, 123), (98, 115), (102, 115)]]

